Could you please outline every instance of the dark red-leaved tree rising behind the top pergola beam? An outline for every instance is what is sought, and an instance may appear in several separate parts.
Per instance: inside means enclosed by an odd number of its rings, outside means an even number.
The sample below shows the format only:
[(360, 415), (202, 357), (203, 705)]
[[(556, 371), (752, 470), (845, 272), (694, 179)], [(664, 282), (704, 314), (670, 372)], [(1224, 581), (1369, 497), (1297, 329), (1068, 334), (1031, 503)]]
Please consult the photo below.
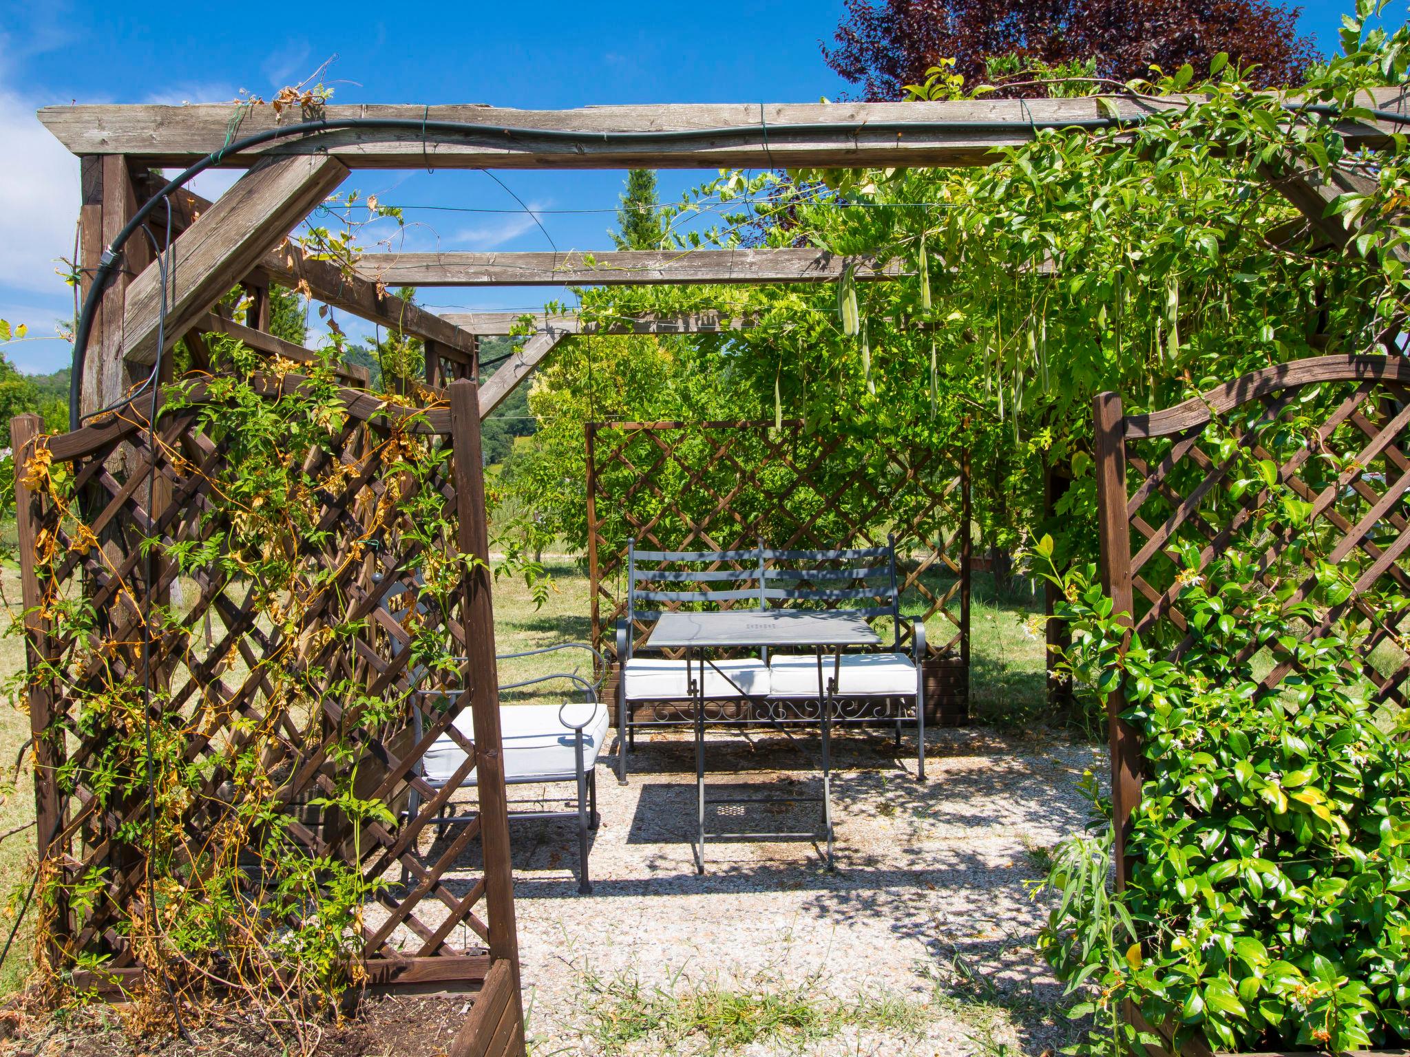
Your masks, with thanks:
[[(1317, 59), (1297, 32), (1300, 8), (1269, 0), (846, 0), (822, 45), (828, 65), (867, 99), (902, 99), (940, 59), (956, 59), (966, 85), (984, 80), (986, 59), (1017, 55), (1055, 66), (1096, 59), (1114, 80), (1173, 72), (1210, 59), (1259, 69), (1256, 85), (1297, 85)], [(1039, 94), (1029, 89), (1029, 94)]]

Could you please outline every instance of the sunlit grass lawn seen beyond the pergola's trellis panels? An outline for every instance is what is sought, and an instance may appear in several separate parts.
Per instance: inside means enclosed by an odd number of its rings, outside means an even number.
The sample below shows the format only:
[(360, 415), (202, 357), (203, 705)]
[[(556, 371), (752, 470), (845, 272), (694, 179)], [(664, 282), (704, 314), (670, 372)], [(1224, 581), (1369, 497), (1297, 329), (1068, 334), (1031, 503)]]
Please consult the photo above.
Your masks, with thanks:
[[(547, 558), (553, 575), (548, 600), (539, 609), (523, 581), (501, 578), (495, 582), (496, 648), (501, 654), (567, 641), (587, 641), (591, 634), (588, 619), (588, 579), (572, 560)], [(931, 585), (940, 588), (940, 581)], [(1042, 609), (1042, 596), (1032, 595), (1026, 582), (1004, 598), (995, 596), (993, 578), (976, 574), (971, 610), (971, 712), (977, 720), (998, 726), (1028, 726), (1043, 707), (1043, 644), (1029, 636), (1022, 622)], [(20, 576), (14, 569), (0, 571), (3, 602), (11, 617), (20, 613)], [(942, 634), (942, 622), (928, 624), (932, 640)], [(0, 676), (8, 679), (24, 664), (24, 650), (18, 637), (0, 637)], [(501, 682), (516, 682), (534, 675), (558, 671), (591, 671), (587, 654), (564, 651), (541, 657), (505, 661), (499, 667)], [(571, 689), (568, 684), (563, 686)], [(506, 700), (540, 699), (551, 689), (534, 689), (506, 695)], [(34, 792), (28, 753), (16, 771), (16, 760), (30, 737), (30, 719), (23, 702), (0, 706), (0, 833), (32, 823)], [(34, 860), (34, 829), (24, 829), (0, 841), (0, 892), (14, 899), (0, 917), (4, 934), (14, 920), (18, 899), (30, 882)], [(31, 908), (32, 913), (32, 908)], [(30, 967), (27, 923), (21, 926), (14, 948), (0, 967), (0, 994), (14, 991)], [(3, 944), (3, 939), (0, 939)]]

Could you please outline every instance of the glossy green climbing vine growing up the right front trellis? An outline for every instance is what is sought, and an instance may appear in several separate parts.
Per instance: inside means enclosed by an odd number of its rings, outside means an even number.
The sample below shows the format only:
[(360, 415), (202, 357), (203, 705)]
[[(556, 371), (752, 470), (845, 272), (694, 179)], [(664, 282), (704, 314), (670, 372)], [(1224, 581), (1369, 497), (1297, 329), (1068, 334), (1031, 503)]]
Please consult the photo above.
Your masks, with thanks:
[(1125, 886), (1111, 895), (1091, 868), (1110, 861), (1110, 802), (1105, 839), (1067, 841), (1049, 878), (1060, 902), (1041, 948), (1083, 992), (1073, 1012), (1094, 1015), (1087, 1050), (1136, 1039), (1125, 1001), (1177, 1044), (1231, 1051), (1410, 1037), (1410, 717), (1394, 703), (1403, 654), (1373, 648), (1403, 651), (1410, 595), (1372, 557), (1399, 530), (1359, 554), (1347, 543), (1344, 510), (1373, 505), (1361, 492), (1379, 475), (1359, 443), (1330, 443), (1348, 438), (1323, 426), (1340, 396), (1308, 386), (1241, 416), (1237, 435), (1206, 427), (1228, 476), (1197, 516), (1232, 503), (1238, 531), (1211, 554), (1203, 537), (1166, 543), (1141, 575), (1170, 607), (1139, 634), (1093, 567), (1063, 572), (1052, 538), (1034, 550), (1062, 591), (1062, 671), (1098, 713), (1120, 693), (1139, 738), (1139, 803), (1115, 820)]

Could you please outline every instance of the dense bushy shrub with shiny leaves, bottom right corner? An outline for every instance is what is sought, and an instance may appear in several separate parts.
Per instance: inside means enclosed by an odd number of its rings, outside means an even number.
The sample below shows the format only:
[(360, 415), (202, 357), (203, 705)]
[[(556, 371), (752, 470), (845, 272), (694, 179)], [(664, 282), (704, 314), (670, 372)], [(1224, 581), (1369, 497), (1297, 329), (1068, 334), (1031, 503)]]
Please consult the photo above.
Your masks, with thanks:
[(1122, 655), (1094, 567), (1058, 575), (1046, 540), (1038, 557), (1066, 598), (1063, 668), (1079, 693), (1120, 689), (1142, 740), (1124, 891), (1097, 898), (1090, 837), (1048, 882), (1063, 899), (1041, 946), (1070, 991), (1097, 987), (1074, 1012), (1110, 1026), (1083, 1049), (1134, 1039), (1124, 999), (1228, 1050), (1410, 1039), (1410, 724), (1375, 703), (1358, 629), (1301, 641), (1323, 610), (1230, 551), (1182, 576), (1183, 655), (1139, 637)]

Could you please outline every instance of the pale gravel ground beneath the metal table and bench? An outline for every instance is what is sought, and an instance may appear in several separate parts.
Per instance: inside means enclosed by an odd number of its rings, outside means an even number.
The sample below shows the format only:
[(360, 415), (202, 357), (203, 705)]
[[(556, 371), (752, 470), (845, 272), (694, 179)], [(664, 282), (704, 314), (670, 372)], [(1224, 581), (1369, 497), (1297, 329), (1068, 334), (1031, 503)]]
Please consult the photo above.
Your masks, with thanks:
[[(740, 841), (709, 844), (698, 875), (688, 736), (639, 741), (626, 786), (599, 764), (591, 896), (577, 895), (570, 824), (513, 823), (532, 1053), (729, 1051), (718, 1033), (670, 1036), (658, 1023), (675, 999), (721, 992), (852, 1010), (825, 1037), (784, 1032), (737, 1049), (746, 1054), (997, 1057), (1070, 1041), (1080, 1025), (1058, 1012), (1060, 988), (1032, 947), (1046, 906), (1024, 881), (1084, 823), (1077, 781), (1100, 774), (1104, 755), (979, 729), (928, 740), (925, 784), (909, 748), (884, 734), (835, 741), (836, 872), (811, 841)], [(821, 781), (780, 737), (711, 731), (708, 785), (816, 792)], [(733, 816), (708, 824), (732, 830), (809, 829), (819, 817), (818, 805), (715, 810)]]

